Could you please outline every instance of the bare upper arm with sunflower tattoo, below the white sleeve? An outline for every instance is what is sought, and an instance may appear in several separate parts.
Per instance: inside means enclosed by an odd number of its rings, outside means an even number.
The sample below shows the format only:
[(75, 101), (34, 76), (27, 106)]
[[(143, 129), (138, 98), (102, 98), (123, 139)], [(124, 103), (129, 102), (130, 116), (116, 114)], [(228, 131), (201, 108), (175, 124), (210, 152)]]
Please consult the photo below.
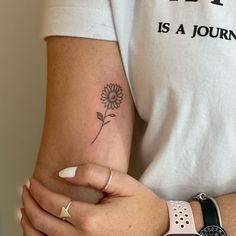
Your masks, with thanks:
[[(99, 192), (72, 187), (57, 173), (65, 166), (86, 162), (127, 171), (134, 107), (118, 44), (53, 36), (47, 38), (47, 58), (46, 114), (34, 177), (53, 191), (96, 202)], [(102, 91), (111, 83), (118, 85), (116, 91), (122, 89), (119, 106), (101, 100)]]

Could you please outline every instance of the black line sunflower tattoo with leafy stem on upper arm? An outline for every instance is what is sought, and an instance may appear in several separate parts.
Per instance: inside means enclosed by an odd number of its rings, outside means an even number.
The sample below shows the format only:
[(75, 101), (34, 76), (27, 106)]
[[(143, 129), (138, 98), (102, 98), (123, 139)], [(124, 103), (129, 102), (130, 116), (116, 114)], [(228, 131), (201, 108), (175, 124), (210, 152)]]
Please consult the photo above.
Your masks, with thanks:
[(101, 112), (97, 112), (97, 118), (101, 121), (101, 127), (91, 144), (93, 144), (97, 140), (99, 134), (102, 131), (102, 128), (111, 122), (111, 120), (106, 119), (108, 117), (116, 117), (114, 113), (107, 114), (107, 112), (108, 110), (118, 109), (123, 100), (123, 96), (123, 89), (120, 85), (111, 83), (104, 87), (101, 94), (101, 101), (104, 104), (106, 110), (104, 114), (102, 114)]

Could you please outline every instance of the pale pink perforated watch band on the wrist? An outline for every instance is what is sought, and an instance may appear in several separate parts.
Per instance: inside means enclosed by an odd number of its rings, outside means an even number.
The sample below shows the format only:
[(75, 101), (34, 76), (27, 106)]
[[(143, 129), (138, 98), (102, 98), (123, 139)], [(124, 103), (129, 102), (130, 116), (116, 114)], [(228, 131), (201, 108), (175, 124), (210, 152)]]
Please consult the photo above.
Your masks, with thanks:
[(199, 235), (196, 231), (193, 213), (188, 202), (167, 201), (169, 210), (169, 231), (167, 235)]

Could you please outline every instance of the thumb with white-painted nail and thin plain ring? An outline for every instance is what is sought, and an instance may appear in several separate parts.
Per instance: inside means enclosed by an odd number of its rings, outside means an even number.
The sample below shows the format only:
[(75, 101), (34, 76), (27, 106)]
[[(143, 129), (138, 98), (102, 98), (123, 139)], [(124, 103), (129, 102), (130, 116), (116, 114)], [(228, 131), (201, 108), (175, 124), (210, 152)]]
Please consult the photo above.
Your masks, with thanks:
[(123, 197), (134, 195), (141, 185), (127, 174), (95, 163), (65, 168), (59, 172), (59, 176), (75, 185)]

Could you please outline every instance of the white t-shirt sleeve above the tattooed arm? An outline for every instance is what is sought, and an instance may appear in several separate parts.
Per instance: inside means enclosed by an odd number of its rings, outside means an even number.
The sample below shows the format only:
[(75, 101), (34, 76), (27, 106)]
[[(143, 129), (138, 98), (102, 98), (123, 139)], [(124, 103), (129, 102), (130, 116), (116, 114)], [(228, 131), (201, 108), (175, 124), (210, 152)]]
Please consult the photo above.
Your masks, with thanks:
[(45, 0), (41, 37), (52, 35), (117, 41), (110, 0)]

